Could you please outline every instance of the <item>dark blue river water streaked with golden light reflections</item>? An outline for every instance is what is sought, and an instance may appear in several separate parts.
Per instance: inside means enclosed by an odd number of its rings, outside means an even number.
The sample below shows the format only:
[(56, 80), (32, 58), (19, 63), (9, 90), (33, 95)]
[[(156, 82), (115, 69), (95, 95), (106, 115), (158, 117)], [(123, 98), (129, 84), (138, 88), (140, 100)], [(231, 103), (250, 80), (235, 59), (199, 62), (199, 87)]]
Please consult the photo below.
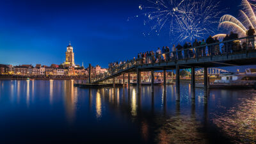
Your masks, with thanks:
[(255, 143), (256, 91), (0, 81), (0, 143)]

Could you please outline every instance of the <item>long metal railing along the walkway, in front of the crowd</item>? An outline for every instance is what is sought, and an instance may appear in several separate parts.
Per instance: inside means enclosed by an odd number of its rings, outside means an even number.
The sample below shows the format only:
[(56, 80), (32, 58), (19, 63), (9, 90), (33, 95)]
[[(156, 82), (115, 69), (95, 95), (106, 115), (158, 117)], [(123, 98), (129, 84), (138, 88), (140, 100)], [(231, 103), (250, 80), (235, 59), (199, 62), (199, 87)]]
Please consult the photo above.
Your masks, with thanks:
[(108, 72), (104, 74), (99, 74), (93, 78), (93, 81), (99, 81), (100, 79), (105, 79), (106, 77), (113, 76), (131, 67), (136, 67), (140, 65), (148, 65), (153, 63), (164, 63), (169, 61), (180, 60), (190, 60), (199, 59), (212, 56), (223, 56), (231, 54), (241, 54), (248, 52), (255, 52), (255, 36), (247, 36), (243, 38), (236, 38), (232, 40), (226, 40), (222, 42), (216, 42), (212, 44), (202, 44), (197, 47), (188, 47), (187, 49), (177, 49), (172, 52), (165, 52), (162, 54), (150, 54), (143, 58), (137, 58), (122, 65), (116, 65), (110, 67)]

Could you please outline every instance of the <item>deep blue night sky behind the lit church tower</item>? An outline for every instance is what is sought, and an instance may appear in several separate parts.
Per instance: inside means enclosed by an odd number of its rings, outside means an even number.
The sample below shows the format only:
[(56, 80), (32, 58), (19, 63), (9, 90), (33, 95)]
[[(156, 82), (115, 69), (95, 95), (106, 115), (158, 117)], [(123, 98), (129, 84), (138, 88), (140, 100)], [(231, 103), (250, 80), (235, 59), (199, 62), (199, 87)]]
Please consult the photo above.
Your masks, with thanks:
[[(0, 63), (51, 65), (65, 61), (71, 41), (76, 64), (108, 67), (111, 61), (132, 59), (138, 52), (170, 45), (170, 37), (143, 36), (138, 6), (143, 1), (2, 0), (0, 3)], [(238, 17), (241, 0), (221, 1), (224, 14)], [(216, 26), (218, 29), (218, 26)], [(223, 32), (223, 31), (221, 31)], [(217, 34), (217, 33), (216, 33)], [(235, 68), (236, 69), (236, 68)]]

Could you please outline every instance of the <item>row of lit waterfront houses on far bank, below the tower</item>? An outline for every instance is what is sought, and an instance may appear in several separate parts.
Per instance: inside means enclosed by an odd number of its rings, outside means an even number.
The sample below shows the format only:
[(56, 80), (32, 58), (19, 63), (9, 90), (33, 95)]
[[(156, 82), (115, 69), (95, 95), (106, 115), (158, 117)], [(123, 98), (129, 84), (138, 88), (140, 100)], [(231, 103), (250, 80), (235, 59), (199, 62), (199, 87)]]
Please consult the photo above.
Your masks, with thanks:
[[(63, 67), (63, 65), (52, 64), (50, 67), (45, 65), (1, 65), (0, 74), (20, 75), (20, 76), (88, 76), (89, 68), (84, 67)], [(91, 75), (107, 72), (106, 68), (99, 65), (91, 68)]]

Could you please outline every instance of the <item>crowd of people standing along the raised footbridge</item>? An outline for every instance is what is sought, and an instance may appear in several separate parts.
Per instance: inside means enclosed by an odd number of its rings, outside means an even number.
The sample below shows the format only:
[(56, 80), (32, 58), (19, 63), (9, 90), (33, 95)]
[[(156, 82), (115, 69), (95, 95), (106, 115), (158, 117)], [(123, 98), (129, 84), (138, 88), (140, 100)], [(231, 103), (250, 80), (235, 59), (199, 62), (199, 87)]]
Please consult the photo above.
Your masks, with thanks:
[[(209, 36), (206, 40), (197, 39), (191, 42), (185, 42), (184, 45), (173, 45), (172, 49), (165, 46), (162, 49), (158, 47), (157, 51), (147, 51), (138, 53), (137, 58), (134, 57), (134, 63), (159, 63), (163, 61), (182, 60), (188, 58), (200, 58), (203, 56), (215, 56), (220, 54), (232, 54), (233, 52), (241, 52), (250, 49), (255, 49), (255, 29), (251, 26), (246, 31), (246, 40), (238, 40), (239, 35), (230, 32), (223, 38), (223, 43), (220, 43), (217, 37)], [(119, 67), (129, 61), (120, 61), (109, 63), (109, 68)]]

